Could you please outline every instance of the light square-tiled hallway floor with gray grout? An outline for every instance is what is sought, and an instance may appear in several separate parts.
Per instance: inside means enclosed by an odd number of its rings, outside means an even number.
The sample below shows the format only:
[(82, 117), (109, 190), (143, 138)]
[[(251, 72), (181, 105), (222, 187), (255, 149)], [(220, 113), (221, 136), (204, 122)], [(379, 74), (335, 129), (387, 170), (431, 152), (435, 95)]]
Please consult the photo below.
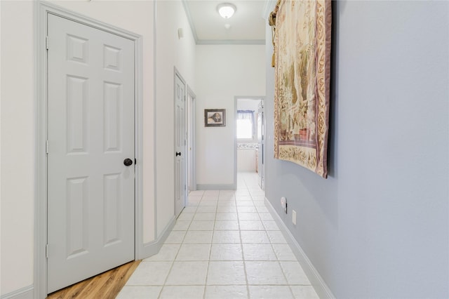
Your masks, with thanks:
[(195, 191), (161, 251), (140, 263), (119, 299), (318, 298), (264, 206), (254, 173), (236, 191)]

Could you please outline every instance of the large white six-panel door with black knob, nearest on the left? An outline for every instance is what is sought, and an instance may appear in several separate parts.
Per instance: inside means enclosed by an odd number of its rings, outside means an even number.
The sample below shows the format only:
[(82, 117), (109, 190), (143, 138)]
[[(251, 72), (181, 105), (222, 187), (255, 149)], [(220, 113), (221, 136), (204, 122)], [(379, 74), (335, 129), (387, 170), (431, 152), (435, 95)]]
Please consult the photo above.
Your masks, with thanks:
[(48, 293), (134, 260), (134, 102), (133, 41), (48, 15)]

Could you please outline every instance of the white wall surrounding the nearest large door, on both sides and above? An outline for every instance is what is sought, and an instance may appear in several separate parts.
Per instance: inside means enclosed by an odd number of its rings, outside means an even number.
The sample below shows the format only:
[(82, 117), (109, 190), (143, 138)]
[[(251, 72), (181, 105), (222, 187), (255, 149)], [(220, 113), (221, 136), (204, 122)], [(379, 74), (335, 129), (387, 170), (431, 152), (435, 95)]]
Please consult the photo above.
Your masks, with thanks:
[[(33, 284), (34, 1), (1, 5), (1, 294)], [(143, 36), (144, 239), (154, 239), (153, 1), (52, 1)]]

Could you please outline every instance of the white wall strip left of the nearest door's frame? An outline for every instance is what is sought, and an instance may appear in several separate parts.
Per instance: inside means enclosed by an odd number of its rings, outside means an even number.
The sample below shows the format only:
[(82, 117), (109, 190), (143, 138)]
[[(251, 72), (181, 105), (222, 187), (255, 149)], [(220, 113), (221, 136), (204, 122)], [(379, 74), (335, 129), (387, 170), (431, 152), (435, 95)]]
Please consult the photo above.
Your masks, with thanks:
[(33, 283), (33, 5), (1, 1), (1, 293)]

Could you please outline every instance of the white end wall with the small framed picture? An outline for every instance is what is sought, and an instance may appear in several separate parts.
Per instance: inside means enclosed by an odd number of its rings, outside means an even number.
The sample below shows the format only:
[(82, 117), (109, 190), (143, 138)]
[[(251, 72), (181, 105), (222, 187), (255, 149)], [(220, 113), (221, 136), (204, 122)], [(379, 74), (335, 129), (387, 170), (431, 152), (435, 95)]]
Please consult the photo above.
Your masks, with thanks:
[[(196, 183), (234, 184), (235, 96), (264, 96), (264, 46), (196, 46)], [(226, 109), (225, 127), (205, 127), (204, 109)]]

